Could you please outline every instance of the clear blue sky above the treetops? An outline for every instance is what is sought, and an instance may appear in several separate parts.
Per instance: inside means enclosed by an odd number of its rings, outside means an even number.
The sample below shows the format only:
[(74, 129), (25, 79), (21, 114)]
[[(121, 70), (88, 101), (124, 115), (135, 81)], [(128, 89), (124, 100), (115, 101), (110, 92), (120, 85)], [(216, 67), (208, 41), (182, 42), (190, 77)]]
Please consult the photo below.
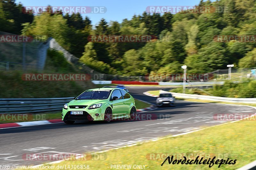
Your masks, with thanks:
[[(88, 16), (92, 20), (92, 24), (97, 24), (101, 18), (105, 18), (108, 22), (122, 22), (124, 18), (131, 19), (134, 14), (142, 14), (148, 6), (194, 6), (199, 4), (200, 0), (16, 0), (26, 7), (46, 7), (51, 5), (54, 7), (96, 7), (97, 11), (101, 7), (102, 13), (81, 13), (83, 18)], [(93, 10), (92, 10), (93, 11)], [(105, 12), (106, 11), (106, 12)]]

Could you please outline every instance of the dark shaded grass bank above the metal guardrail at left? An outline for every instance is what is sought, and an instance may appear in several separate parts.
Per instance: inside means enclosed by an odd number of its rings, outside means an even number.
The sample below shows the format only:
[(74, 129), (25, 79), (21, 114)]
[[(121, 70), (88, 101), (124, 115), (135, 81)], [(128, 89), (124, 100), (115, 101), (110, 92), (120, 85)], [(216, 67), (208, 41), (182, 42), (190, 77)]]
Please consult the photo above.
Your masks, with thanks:
[(73, 97), (95, 87), (91, 81), (25, 81), (22, 75), (21, 71), (0, 71), (1, 98)]

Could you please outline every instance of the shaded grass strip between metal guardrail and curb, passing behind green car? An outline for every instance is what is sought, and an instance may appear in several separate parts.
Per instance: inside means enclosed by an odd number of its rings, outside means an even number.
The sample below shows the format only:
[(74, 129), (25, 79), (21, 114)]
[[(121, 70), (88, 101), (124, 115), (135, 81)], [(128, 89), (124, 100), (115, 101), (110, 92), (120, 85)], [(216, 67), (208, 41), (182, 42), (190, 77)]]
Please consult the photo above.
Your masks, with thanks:
[[(137, 109), (150, 107), (150, 104), (145, 103), (140, 100), (136, 100), (136, 99), (135, 99), (135, 105), (136, 105)], [(18, 118), (18, 115), (16, 114), (15, 117), (16, 117), (16, 119), (19, 119), (19, 120), (14, 120), (12, 118), (12, 115), (15, 115), (15, 114), (0, 114), (0, 124), (1, 123), (17, 123), (17, 122), (31, 122), (31, 121), (61, 119), (61, 111), (23, 114), (24, 116), (21, 115), (21, 117), (19, 117), (19, 118)], [(9, 120), (9, 118), (11, 120)]]

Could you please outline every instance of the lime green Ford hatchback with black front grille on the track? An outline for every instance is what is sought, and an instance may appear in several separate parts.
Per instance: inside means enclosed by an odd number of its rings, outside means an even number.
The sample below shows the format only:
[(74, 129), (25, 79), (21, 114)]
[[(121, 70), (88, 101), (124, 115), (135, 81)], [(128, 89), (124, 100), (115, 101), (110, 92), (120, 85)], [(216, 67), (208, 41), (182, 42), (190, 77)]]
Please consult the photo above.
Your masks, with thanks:
[(62, 120), (67, 124), (75, 121), (105, 121), (113, 119), (134, 119), (136, 106), (134, 98), (118, 88), (97, 88), (86, 90), (62, 109)]

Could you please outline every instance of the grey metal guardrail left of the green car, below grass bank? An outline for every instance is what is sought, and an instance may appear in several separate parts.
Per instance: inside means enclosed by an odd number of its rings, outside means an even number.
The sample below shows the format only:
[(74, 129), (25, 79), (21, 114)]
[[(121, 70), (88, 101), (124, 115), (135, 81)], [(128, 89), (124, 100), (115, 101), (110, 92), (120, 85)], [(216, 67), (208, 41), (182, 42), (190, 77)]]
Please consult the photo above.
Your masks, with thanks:
[(0, 114), (61, 110), (65, 103), (68, 103), (73, 99), (73, 97), (46, 99), (0, 99)]

